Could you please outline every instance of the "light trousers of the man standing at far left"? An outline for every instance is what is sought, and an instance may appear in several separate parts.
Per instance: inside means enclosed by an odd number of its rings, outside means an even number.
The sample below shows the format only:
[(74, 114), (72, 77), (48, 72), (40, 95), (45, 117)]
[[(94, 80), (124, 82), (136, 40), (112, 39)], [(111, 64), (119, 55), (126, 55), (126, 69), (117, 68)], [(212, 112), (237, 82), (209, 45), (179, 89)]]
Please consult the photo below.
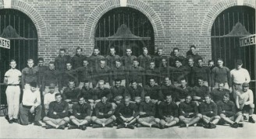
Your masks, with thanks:
[(18, 119), (20, 105), (20, 85), (8, 86), (6, 91), (9, 119)]

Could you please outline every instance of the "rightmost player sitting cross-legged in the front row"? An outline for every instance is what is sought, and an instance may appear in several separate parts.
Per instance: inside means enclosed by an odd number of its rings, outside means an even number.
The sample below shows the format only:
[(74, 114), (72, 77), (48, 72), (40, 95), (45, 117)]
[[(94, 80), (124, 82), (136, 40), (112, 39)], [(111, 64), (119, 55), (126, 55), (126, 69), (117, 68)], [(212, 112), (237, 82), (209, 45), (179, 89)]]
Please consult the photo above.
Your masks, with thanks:
[(221, 118), (219, 123), (229, 123), (231, 127), (243, 127), (243, 114), (241, 112), (236, 113), (236, 105), (229, 100), (229, 93), (223, 96), (222, 101), (217, 103), (218, 113)]

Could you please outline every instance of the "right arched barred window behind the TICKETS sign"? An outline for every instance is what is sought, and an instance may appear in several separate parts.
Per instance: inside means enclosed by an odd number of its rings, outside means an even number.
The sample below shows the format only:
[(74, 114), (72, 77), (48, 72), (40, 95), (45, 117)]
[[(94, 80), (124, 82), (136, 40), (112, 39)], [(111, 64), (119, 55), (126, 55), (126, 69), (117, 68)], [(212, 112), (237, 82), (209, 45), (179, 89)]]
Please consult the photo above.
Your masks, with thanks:
[(239, 38), (255, 34), (255, 9), (247, 6), (233, 6), (217, 16), (212, 25), (212, 59), (221, 57), (229, 69), (235, 68), (236, 59), (243, 67), (254, 73), (254, 46), (240, 47)]

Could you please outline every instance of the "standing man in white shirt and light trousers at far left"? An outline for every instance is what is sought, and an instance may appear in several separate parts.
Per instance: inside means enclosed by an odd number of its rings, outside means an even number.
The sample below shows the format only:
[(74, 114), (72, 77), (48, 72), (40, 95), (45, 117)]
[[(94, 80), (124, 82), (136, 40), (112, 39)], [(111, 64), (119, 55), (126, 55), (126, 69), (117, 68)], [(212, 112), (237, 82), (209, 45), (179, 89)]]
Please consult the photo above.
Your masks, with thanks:
[(11, 60), (9, 66), (11, 69), (5, 72), (5, 85), (8, 85), (5, 91), (9, 123), (18, 122), (19, 103), (20, 103), (20, 79), (21, 72), (16, 69), (16, 61)]

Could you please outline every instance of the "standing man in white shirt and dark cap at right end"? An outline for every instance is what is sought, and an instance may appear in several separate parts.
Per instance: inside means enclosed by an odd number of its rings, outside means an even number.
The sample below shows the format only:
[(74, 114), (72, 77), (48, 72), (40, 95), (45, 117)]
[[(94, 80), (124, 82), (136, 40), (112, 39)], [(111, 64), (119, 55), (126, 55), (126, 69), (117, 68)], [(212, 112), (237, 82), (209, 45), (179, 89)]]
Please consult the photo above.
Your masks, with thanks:
[(251, 78), (247, 69), (242, 68), (243, 62), (239, 59), (236, 61), (236, 68), (230, 71), (232, 81), (233, 99), (236, 99), (236, 90), (242, 90), (244, 82), (251, 82)]

